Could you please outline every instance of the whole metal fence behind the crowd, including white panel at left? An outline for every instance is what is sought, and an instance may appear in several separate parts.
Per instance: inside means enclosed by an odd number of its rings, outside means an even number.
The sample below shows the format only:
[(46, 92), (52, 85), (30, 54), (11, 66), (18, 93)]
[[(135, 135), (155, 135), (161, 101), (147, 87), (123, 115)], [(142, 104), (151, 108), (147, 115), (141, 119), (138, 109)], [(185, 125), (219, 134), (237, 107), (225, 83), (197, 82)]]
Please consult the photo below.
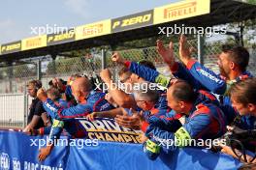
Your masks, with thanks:
[[(188, 43), (197, 49), (197, 40), (190, 40)], [(221, 52), (221, 46), (224, 42), (206, 42), (204, 46), (203, 62), (210, 70), (218, 73), (217, 57)], [(178, 56), (178, 44), (174, 44), (176, 56)], [(250, 63), (248, 71), (256, 75), (256, 49), (249, 48)], [(153, 62), (158, 71), (168, 75), (170, 73), (168, 67), (164, 64), (162, 58), (157, 53), (156, 47), (146, 47), (137, 49), (128, 49), (119, 51), (121, 55), (130, 61), (149, 60)], [(111, 68), (112, 74), (116, 75), (119, 68), (111, 61), (112, 51), (106, 52), (106, 66)], [(197, 58), (197, 53), (194, 54)], [(176, 57), (176, 60), (178, 58)], [(23, 95), (25, 93), (25, 85), (31, 79), (37, 78), (38, 65), (25, 64), (15, 67), (0, 68), (0, 99), (1, 99), (1, 116), (0, 126), (8, 124), (9, 126), (23, 126), (24, 115), (27, 114), (27, 99)], [(58, 60), (42, 60), (42, 83), (48, 88), (48, 81), (52, 77), (60, 77), (67, 79), (74, 73), (85, 73), (92, 75), (99, 73), (102, 69), (102, 53), (93, 53), (89, 57), (75, 57)], [(16, 94), (18, 93), (18, 94)], [(10, 95), (4, 95), (10, 94)], [(16, 94), (16, 95), (14, 95)], [(24, 100), (25, 99), (25, 100)], [(24, 104), (25, 102), (25, 104)], [(4, 123), (3, 123), (4, 122)]]

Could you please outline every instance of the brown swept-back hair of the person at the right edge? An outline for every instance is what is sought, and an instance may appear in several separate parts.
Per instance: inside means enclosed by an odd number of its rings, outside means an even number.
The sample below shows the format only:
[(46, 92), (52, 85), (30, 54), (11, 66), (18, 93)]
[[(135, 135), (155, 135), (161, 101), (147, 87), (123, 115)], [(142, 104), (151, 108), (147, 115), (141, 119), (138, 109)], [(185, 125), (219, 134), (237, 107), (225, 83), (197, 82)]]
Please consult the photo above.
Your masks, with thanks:
[(256, 104), (256, 78), (247, 78), (233, 84), (229, 89), (229, 95), (243, 105)]

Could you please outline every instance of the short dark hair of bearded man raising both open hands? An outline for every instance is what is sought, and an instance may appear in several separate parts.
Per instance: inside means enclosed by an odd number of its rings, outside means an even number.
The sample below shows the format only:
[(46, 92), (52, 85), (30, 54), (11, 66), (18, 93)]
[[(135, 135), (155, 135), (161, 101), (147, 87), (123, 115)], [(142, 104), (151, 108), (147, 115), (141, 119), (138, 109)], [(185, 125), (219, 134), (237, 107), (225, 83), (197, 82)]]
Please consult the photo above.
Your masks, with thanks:
[(230, 59), (239, 66), (240, 71), (246, 71), (249, 64), (250, 54), (243, 46), (234, 46), (225, 44), (222, 46), (222, 51), (230, 54)]

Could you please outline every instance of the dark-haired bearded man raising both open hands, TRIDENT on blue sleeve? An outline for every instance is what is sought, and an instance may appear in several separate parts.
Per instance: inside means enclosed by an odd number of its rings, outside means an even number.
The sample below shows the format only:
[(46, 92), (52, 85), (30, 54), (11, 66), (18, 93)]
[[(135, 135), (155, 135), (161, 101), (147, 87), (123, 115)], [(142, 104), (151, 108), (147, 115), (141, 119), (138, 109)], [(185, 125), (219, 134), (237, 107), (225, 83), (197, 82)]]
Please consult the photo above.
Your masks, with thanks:
[[(182, 64), (174, 61), (174, 55), (166, 52), (168, 49), (161, 42), (158, 42), (157, 46), (159, 53), (176, 77), (187, 80), (195, 89), (207, 89), (220, 95), (220, 101), (223, 104), (222, 109), (228, 124), (231, 124), (239, 113), (232, 107), (227, 92), (233, 84), (252, 76), (246, 71), (249, 62), (248, 51), (242, 46), (224, 46), (218, 58), (220, 74), (217, 75), (191, 57), (191, 50), (188, 48), (184, 35), (181, 35), (179, 40), (179, 58)], [(251, 124), (255, 121), (255, 117), (242, 116), (240, 127), (250, 129)]]

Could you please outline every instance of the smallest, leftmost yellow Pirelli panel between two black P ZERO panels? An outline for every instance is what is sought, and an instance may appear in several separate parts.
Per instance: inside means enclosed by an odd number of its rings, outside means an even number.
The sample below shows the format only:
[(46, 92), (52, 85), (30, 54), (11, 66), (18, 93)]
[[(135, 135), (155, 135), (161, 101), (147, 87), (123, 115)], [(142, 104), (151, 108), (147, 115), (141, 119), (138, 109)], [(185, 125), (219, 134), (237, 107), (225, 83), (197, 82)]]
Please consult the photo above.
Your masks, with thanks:
[(47, 35), (24, 39), (21, 41), (21, 50), (28, 50), (47, 46)]

